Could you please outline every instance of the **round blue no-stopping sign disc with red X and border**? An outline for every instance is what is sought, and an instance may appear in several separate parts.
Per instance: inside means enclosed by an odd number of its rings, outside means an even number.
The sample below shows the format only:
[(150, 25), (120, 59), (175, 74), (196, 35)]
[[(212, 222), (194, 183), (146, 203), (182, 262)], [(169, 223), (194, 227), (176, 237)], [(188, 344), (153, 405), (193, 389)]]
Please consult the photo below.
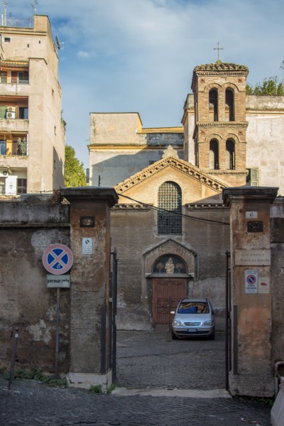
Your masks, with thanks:
[(64, 244), (51, 244), (43, 253), (43, 266), (55, 275), (64, 274), (73, 264), (73, 254)]

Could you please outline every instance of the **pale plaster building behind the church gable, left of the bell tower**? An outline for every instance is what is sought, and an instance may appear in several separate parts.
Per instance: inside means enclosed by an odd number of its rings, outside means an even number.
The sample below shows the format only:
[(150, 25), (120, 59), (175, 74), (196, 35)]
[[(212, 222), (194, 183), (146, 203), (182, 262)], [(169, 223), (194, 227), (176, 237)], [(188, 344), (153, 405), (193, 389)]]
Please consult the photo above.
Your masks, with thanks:
[(146, 168), (171, 145), (183, 157), (182, 130), (142, 129), (138, 113), (90, 114), (91, 185), (112, 186)]

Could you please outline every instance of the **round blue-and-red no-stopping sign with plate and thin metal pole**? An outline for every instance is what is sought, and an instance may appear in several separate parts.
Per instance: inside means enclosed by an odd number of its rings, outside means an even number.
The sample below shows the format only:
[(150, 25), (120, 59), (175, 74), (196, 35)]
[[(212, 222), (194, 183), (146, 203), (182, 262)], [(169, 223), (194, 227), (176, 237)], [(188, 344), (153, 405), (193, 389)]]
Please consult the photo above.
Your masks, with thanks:
[[(46, 276), (46, 286), (56, 288), (56, 337), (55, 337), (55, 377), (58, 377), (60, 288), (70, 288), (70, 275), (62, 275), (70, 270), (73, 254), (64, 244), (51, 244), (43, 252), (43, 266), (53, 275)], [(56, 276), (55, 276), (56, 275)]]

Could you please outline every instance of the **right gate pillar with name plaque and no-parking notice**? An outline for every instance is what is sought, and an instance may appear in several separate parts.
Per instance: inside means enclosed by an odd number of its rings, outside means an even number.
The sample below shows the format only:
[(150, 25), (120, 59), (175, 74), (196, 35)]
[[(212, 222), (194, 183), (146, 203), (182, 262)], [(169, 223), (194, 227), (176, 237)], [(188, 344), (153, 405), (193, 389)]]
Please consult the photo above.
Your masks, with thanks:
[(275, 187), (223, 191), (230, 207), (232, 395), (273, 396), (270, 204)]

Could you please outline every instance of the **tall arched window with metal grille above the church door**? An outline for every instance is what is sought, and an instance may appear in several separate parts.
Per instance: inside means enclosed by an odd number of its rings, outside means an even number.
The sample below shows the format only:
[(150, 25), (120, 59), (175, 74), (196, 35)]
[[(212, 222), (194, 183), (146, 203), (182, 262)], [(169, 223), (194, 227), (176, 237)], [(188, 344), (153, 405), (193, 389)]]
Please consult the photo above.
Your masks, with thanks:
[(182, 233), (182, 190), (175, 182), (164, 182), (158, 190), (158, 234)]

